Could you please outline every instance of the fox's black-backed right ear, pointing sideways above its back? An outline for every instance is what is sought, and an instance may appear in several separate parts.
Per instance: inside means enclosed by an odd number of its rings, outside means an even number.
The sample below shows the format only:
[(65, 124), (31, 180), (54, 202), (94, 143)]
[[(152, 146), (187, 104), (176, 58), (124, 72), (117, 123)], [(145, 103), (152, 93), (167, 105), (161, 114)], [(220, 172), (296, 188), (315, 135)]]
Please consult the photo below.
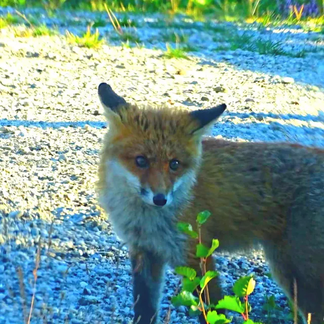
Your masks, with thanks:
[(207, 129), (212, 126), (220, 115), (225, 111), (226, 104), (208, 108), (198, 109), (190, 112), (190, 117), (198, 122), (198, 127), (195, 127), (192, 131), (192, 135), (203, 135), (207, 132)]

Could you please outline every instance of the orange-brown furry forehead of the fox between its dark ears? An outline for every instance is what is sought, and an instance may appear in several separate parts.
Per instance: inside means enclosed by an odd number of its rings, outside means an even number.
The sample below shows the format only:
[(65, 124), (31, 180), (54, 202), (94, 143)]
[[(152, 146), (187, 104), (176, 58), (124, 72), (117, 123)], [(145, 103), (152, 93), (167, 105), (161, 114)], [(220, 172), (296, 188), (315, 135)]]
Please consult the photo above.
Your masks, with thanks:
[[(131, 107), (119, 112), (124, 129), (124, 151), (129, 156), (145, 154), (152, 159), (188, 158), (196, 142), (188, 130), (188, 113), (168, 107)], [(117, 137), (118, 137), (117, 133)]]

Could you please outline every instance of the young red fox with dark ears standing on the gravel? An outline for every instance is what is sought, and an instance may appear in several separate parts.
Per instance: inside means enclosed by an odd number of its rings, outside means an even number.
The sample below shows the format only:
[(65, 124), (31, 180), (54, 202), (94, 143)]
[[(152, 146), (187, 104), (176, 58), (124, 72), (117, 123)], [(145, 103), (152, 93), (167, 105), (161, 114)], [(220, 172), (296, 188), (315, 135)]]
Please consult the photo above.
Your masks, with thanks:
[[(263, 248), (270, 271), (289, 299), (297, 284), (303, 321), (324, 320), (324, 150), (290, 142), (235, 142), (209, 136), (226, 104), (185, 110), (131, 104), (101, 83), (108, 130), (97, 190), (116, 235), (128, 247), (135, 324), (159, 320), (167, 266), (201, 275), (194, 239), (177, 223), (195, 223), (203, 244), (218, 251)], [(215, 261), (207, 262), (207, 270)], [(216, 304), (219, 278), (209, 283)], [(218, 310), (226, 312), (226, 310)], [(206, 323), (203, 316), (200, 323)]]

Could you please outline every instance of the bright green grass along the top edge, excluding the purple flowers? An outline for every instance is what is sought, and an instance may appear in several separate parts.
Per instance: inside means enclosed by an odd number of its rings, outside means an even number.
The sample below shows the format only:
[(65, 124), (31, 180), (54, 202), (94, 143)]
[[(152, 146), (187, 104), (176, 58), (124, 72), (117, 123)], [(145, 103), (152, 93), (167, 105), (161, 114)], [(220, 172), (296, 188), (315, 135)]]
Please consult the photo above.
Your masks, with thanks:
[[(323, 7), (323, 0), (316, 2), (319, 8)], [(124, 13), (125, 17), (121, 20), (125, 21), (125, 26), (129, 25), (126, 12), (160, 12), (171, 15), (180, 13), (199, 21), (205, 21), (206, 16), (211, 16), (224, 21), (259, 20), (259, 23), (263, 25), (277, 24), (283, 20), (286, 20), (285, 23), (288, 24), (299, 23), (294, 13), (288, 19), (280, 18), (281, 12), (276, 0), (109, 0), (108, 2), (106, 0), (48, 0), (46, 2), (43, 0), (0, 0), (1, 7), (43, 7), (49, 15), (55, 14), (56, 9), (103, 12), (105, 11), (105, 4), (108, 4), (114, 12)], [(324, 19), (324, 16), (321, 19)], [(306, 20), (304, 14), (302, 14), (301, 20)], [(134, 26), (134, 24), (136, 24), (136, 21), (131, 21), (131, 26)]]

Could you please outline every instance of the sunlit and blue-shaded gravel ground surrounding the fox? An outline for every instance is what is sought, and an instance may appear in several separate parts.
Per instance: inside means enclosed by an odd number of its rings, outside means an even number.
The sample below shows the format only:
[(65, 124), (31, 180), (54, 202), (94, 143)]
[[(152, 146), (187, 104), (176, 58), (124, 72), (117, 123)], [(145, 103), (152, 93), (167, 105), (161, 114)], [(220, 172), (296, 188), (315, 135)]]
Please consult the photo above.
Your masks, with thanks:
[[(228, 111), (213, 129), (217, 137), (324, 147), (323, 35), (255, 28), (249, 32), (280, 41), (289, 51), (308, 49), (303, 58), (260, 55), (215, 50), (219, 29), (240, 32), (245, 26), (135, 15), (145, 47), (121, 46), (107, 24), (99, 30), (108, 42), (94, 50), (68, 44), (64, 31), (82, 33), (89, 21), (107, 20), (103, 14), (61, 12), (49, 18), (40, 10), (25, 13), (58, 26), (61, 34), (23, 38), (14, 37), (12, 27), (0, 30), (1, 323), (23, 323), (28, 316), (37, 247), (32, 323), (131, 322), (128, 252), (94, 191), (106, 132), (97, 98), (100, 82), (139, 104), (196, 109), (225, 102)], [(161, 56), (164, 35), (179, 29), (198, 49), (189, 53), (190, 60)], [(255, 273), (252, 318), (289, 323), (287, 300), (269, 277), (262, 251), (215, 257), (228, 293), (239, 276)], [(178, 282), (168, 270), (162, 318)], [(265, 295), (274, 295), (284, 311), (267, 319)], [(169, 322), (197, 323), (173, 307)]]

